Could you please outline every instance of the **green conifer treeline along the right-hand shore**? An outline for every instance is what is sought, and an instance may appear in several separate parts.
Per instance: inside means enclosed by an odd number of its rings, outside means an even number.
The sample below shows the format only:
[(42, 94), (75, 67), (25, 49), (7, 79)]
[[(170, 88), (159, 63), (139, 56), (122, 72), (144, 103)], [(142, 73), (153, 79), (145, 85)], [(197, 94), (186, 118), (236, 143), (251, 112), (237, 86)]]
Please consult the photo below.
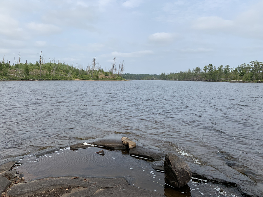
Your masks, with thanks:
[(218, 68), (212, 64), (203, 69), (196, 67), (177, 73), (161, 73), (160, 80), (193, 80), (193, 81), (255, 81), (263, 79), (263, 63), (251, 61), (249, 64), (241, 64), (236, 68), (229, 65), (220, 65)]

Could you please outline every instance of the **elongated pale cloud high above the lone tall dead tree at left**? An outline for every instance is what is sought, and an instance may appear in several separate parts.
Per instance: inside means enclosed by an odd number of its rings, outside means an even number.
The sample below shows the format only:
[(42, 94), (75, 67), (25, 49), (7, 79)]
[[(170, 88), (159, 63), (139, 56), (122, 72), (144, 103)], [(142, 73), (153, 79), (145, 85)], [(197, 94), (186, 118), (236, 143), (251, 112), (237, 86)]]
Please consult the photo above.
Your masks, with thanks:
[(28, 23), (27, 28), (35, 32), (38, 32), (40, 34), (52, 34), (52, 33), (57, 33), (61, 31), (61, 28), (55, 25), (35, 23), (35, 22)]

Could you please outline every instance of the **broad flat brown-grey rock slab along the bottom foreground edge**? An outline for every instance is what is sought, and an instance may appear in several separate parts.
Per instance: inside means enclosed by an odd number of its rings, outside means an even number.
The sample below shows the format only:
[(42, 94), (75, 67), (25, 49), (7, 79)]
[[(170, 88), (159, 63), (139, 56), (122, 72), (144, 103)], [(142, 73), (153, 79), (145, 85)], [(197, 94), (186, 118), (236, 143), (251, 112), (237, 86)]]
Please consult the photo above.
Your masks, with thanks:
[[(59, 190), (63, 197), (86, 197), (86, 196), (136, 196), (136, 197), (161, 197), (159, 193), (147, 191), (128, 184), (124, 178), (84, 178), (72, 179), (72, 177), (46, 178), (27, 183), (13, 185), (8, 189), (6, 196), (38, 197), (53, 196)], [(162, 196), (163, 197), (163, 196)]]

